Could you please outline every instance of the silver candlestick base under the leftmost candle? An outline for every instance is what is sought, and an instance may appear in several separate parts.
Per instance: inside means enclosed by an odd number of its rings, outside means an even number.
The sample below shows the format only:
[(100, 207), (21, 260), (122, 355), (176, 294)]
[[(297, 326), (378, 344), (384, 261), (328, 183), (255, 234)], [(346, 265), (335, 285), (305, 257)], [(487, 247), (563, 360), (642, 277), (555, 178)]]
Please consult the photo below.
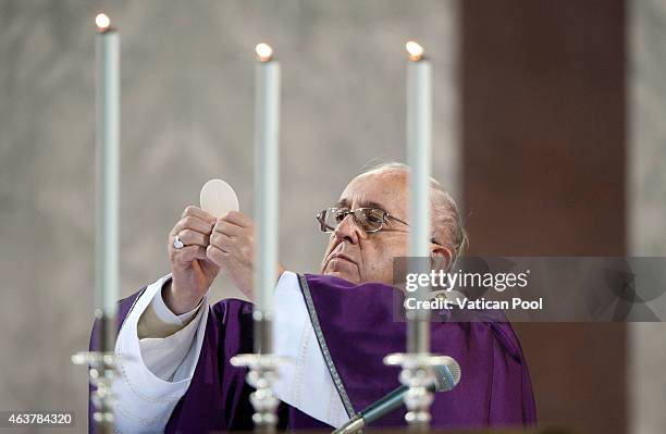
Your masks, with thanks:
[(113, 352), (82, 351), (72, 356), (72, 362), (88, 365), (90, 384), (95, 386), (95, 392), (90, 396), (95, 406), (92, 419), (101, 433), (112, 433), (115, 401), (111, 387), (115, 376), (115, 355)]

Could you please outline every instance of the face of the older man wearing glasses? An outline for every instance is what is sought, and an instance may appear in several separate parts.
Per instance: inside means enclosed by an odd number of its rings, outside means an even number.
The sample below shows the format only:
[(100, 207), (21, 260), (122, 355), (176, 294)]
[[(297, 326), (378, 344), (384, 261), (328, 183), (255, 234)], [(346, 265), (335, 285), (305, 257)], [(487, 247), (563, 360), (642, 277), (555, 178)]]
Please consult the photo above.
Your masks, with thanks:
[[(338, 208), (380, 208), (407, 221), (408, 178), (402, 171), (365, 173), (347, 185)], [(375, 233), (366, 234), (349, 214), (331, 234), (321, 273), (354, 283), (393, 282), (393, 258), (406, 257), (409, 227), (393, 219)]]

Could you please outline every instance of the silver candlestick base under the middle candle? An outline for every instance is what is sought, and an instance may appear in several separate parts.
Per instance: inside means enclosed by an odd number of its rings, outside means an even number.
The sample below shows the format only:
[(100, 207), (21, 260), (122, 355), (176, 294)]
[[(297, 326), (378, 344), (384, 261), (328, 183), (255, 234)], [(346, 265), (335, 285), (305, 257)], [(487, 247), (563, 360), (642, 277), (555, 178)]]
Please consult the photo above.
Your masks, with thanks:
[(231, 358), (231, 364), (234, 367), (249, 368), (247, 383), (256, 388), (250, 394), (250, 402), (255, 408), (252, 421), (256, 432), (275, 432), (280, 401), (271, 386), (278, 379), (278, 368), (286, 361), (284, 357), (261, 354), (238, 355)]

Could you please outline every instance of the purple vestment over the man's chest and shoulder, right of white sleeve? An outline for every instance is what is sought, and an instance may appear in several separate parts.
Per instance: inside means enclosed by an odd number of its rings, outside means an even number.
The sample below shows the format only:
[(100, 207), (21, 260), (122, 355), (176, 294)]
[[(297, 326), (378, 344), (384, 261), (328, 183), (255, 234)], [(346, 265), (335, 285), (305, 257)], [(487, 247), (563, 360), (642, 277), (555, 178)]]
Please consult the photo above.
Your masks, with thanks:
[[(399, 368), (386, 367), (382, 360), (406, 348), (406, 324), (394, 315), (399, 293), (382, 284), (306, 277), (301, 289), (310, 294), (335, 370), (359, 411), (398, 386)], [(433, 426), (536, 422), (527, 363), (508, 322), (433, 322), (431, 351), (453, 357), (461, 370), (453, 390), (435, 394)], [(403, 416), (396, 411), (378, 425), (402, 424)]]

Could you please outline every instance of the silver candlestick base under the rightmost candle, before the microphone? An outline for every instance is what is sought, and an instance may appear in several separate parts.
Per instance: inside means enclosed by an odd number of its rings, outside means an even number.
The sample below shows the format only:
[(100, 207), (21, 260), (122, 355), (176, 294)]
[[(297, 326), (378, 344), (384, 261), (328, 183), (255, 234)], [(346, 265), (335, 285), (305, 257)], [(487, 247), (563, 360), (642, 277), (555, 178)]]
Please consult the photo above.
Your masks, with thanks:
[(411, 431), (421, 432), (430, 426), (430, 405), (433, 400), (429, 386), (434, 382), (434, 367), (445, 364), (449, 358), (431, 354), (392, 354), (384, 364), (403, 367), (399, 381), (409, 387), (405, 394), (405, 421)]

